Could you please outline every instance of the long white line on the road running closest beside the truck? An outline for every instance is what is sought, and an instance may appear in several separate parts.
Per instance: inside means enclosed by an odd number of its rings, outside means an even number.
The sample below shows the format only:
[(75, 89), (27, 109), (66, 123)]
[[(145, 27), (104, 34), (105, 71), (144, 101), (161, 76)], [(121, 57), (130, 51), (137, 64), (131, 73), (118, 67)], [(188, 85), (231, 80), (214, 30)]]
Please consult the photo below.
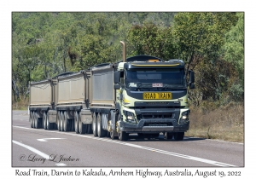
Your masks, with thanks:
[[(13, 126), (16, 128), (20, 128), (20, 129), (25, 129), (25, 130), (38, 130), (38, 129), (33, 129), (33, 128), (26, 128), (26, 127), (20, 127), (20, 126)], [(171, 155), (171, 156), (175, 156), (175, 157), (179, 157), (179, 158), (183, 158), (183, 159), (191, 159), (194, 161), (198, 161), (198, 162), (202, 162), (202, 163), (206, 163), (206, 164), (210, 164), (210, 165), (217, 165), (217, 166), (224, 166), (224, 167), (236, 167), (236, 165), (230, 165), (230, 164), (225, 164), (225, 163), (221, 163), (218, 161), (214, 161), (214, 160), (210, 160), (210, 159), (202, 159), (202, 158), (198, 158), (198, 157), (194, 157), (194, 156), (189, 156), (189, 155), (184, 155), (181, 153), (172, 153), (169, 151), (165, 151), (165, 150), (160, 150), (157, 148), (152, 148), (152, 147), (144, 147), (144, 146), (140, 146), (140, 145), (136, 145), (136, 144), (131, 144), (131, 143), (127, 143), (124, 141), (114, 141), (114, 140), (109, 140), (109, 139), (104, 139), (104, 138), (99, 138), (99, 137), (94, 137), (94, 136), (85, 136), (85, 135), (78, 135), (78, 134), (72, 134), (72, 133), (65, 133), (65, 132), (60, 132), (60, 131), (52, 131), (52, 130), (40, 130), (42, 132), (53, 132), (53, 133), (58, 133), (58, 134), (62, 134), (62, 135), (69, 135), (69, 136), (80, 136), (80, 137), (85, 137), (85, 138), (90, 138), (90, 139), (95, 139), (95, 140), (99, 140), (99, 141), (108, 141), (108, 142), (112, 142), (112, 143), (116, 143), (116, 144), (120, 144), (120, 145), (125, 145), (125, 146), (129, 146), (129, 147), (137, 147), (143, 150), (148, 150), (148, 151), (154, 151), (155, 153), (163, 153), (166, 155)]]

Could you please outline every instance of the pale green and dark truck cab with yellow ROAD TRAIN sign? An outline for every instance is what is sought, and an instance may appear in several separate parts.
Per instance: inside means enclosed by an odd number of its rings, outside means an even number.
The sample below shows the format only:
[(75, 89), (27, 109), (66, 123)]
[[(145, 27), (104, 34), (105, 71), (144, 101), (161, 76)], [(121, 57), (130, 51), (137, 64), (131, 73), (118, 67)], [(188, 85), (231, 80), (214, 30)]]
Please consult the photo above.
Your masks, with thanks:
[(186, 81), (182, 60), (163, 61), (137, 55), (119, 62), (114, 72), (117, 133), (126, 140), (129, 133), (139, 136), (174, 136), (183, 140), (189, 130), (188, 86), (195, 88), (194, 72)]

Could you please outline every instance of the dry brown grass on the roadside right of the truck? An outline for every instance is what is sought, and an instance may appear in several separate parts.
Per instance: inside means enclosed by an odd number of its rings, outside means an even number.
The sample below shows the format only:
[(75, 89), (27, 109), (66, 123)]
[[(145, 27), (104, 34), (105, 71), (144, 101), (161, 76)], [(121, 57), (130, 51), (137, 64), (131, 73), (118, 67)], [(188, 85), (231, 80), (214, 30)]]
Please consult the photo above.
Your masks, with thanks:
[(207, 110), (191, 109), (190, 128), (186, 136), (197, 136), (223, 141), (244, 141), (244, 106), (230, 103), (226, 107)]

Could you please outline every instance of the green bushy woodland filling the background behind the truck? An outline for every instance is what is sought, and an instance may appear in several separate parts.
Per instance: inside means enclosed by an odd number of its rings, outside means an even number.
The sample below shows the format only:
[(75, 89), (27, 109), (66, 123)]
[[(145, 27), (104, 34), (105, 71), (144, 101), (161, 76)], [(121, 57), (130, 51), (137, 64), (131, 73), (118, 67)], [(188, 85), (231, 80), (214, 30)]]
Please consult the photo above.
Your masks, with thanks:
[(187, 74), (195, 72), (196, 89), (189, 90), (195, 111), (243, 103), (243, 13), (23, 12), (12, 14), (13, 107), (26, 106), (30, 81), (120, 61), (120, 40), (127, 57), (185, 61)]

